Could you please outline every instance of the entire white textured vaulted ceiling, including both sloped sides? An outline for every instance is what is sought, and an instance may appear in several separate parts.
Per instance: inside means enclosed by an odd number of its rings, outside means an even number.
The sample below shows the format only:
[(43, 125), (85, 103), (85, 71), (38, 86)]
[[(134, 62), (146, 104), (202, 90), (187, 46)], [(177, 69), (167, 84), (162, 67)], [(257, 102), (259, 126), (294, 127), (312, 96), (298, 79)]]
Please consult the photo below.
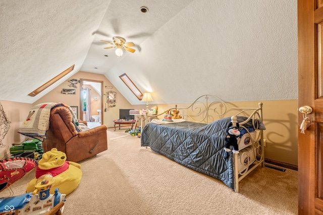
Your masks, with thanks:
[[(32, 103), (78, 71), (104, 74), (132, 104), (123, 73), (154, 103), (297, 99), (297, 0), (3, 0), (0, 24), (0, 100)], [(136, 51), (117, 58), (99, 41), (113, 36)]]

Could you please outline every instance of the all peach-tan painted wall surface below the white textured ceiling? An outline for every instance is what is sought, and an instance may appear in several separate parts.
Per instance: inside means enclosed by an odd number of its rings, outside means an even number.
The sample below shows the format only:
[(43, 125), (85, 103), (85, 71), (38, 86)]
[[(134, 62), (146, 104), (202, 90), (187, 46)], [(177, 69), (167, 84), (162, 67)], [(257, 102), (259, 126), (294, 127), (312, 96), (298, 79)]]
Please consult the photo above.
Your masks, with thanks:
[[(72, 78), (84, 78), (91, 80), (103, 80), (104, 86), (112, 86), (112, 84), (102, 75), (79, 72)], [(72, 79), (71, 78), (71, 79)], [(9, 148), (12, 143), (22, 142), (26, 137), (17, 133), (20, 124), (25, 120), (29, 110), (33, 105), (43, 102), (68, 102), (72, 106), (79, 106), (79, 90), (77, 95), (63, 95), (62, 88), (66, 88), (68, 82), (62, 84), (57, 89), (52, 90), (38, 99), (33, 104), (19, 103), (13, 101), (0, 100), (4, 110), (11, 121), (9, 133), (3, 140), (6, 145), (0, 148), (0, 158), (3, 158), (6, 153), (9, 153)], [(78, 88), (79, 89), (79, 86)], [(105, 90), (105, 89), (104, 89)], [(117, 102), (114, 108), (109, 108), (103, 112), (104, 124), (108, 127), (113, 127), (113, 120), (119, 118), (119, 109), (145, 109), (146, 105), (131, 105), (117, 89), (109, 89), (117, 92)], [(106, 90), (106, 91), (109, 91)], [(71, 97), (70, 97), (71, 96)], [(298, 101), (297, 100), (275, 100), (263, 102), (263, 123), (266, 127), (264, 131), (264, 139), (266, 139), (265, 158), (277, 160), (290, 165), (297, 166), (297, 135), (300, 132), (298, 119)], [(257, 106), (257, 101), (246, 102), (231, 102), (232, 105), (254, 107)], [(174, 108), (175, 104), (153, 104), (149, 103), (149, 109), (158, 106), (158, 113)], [(104, 106), (104, 105), (103, 105)], [(178, 104), (178, 107), (185, 107), (188, 104)]]

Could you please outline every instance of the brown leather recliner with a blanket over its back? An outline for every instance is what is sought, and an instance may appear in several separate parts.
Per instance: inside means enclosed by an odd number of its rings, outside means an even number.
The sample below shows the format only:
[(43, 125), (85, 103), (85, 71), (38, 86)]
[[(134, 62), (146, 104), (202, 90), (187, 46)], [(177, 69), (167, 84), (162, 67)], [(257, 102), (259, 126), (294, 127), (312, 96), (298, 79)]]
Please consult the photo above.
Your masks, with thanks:
[(43, 141), (44, 152), (57, 148), (66, 153), (67, 160), (79, 162), (107, 149), (105, 125), (78, 132), (73, 116), (65, 106), (55, 106), (50, 111), (49, 129)]

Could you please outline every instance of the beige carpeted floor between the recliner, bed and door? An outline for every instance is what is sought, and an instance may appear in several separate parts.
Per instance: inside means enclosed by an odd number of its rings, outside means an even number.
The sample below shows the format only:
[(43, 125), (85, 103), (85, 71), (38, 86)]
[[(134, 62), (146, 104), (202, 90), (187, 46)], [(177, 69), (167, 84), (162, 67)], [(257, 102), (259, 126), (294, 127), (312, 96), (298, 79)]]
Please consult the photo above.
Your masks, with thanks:
[[(125, 129), (107, 135), (108, 149), (80, 162), (83, 177), (66, 197), (63, 214), (297, 214), (297, 171), (259, 167), (235, 193), (141, 147)], [(24, 193), (34, 176), (13, 184), (14, 194)]]

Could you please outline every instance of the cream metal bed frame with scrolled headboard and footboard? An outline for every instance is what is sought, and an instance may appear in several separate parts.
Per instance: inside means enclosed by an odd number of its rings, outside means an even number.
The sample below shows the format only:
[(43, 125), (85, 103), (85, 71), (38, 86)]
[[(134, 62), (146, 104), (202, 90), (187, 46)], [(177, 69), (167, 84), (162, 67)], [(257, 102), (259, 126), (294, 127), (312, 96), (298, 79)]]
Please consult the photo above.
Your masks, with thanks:
[[(239, 156), (237, 153), (233, 154), (235, 192), (239, 192), (239, 182), (251, 171), (258, 166), (264, 167), (263, 131), (258, 129), (257, 124), (257, 119), (262, 121), (262, 102), (259, 102), (258, 107), (256, 108), (238, 108), (232, 104), (229, 104), (228, 102), (224, 102), (218, 96), (205, 94), (199, 96), (186, 108), (178, 108), (177, 105), (175, 105), (175, 108), (169, 110), (179, 110), (180, 116), (182, 116), (183, 119), (199, 123), (211, 123), (213, 121), (225, 118), (225, 115), (227, 115), (227, 117), (232, 116), (231, 122), (235, 124), (237, 123), (237, 116), (248, 117), (246, 121), (239, 123), (240, 128), (245, 128), (244, 124), (252, 120), (252, 124), (254, 130), (257, 132), (257, 135), (255, 139), (252, 138), (249, 132), (248, 135), (252, 141), (255, 161), (253, 163), (249, 163), (249, 159), (247, 159), (247, 164), (245, 164), (245, 160), (238, 159)], [(167, 111), (156, 115), (155, 117), (165, 115)], [(243, 153), (245, 152), (239, 153), (240, 158), (244, 157)], [(240, 172), (238, 169), (239, 165), (246, 165), (246, 169)]]

